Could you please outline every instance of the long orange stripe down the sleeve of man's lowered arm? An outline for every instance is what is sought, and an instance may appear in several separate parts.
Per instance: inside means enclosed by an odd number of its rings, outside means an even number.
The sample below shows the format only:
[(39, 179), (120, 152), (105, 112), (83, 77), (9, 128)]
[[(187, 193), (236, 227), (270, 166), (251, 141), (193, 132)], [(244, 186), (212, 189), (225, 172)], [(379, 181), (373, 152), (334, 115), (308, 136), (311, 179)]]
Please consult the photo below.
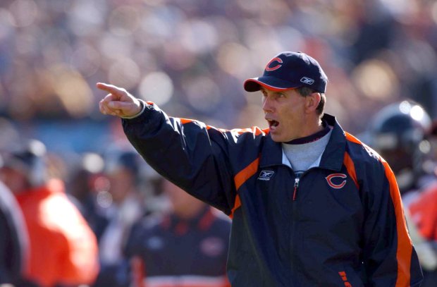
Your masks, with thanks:
[(398, 279), (396, 281), (396, 287), (410, 286), (412, 241), (407, 232), (407, 223), (405, 222), (402, 200), (395, 175), (390, 169), (390, 166), (388, 166), (387, 161), (383, 159), (381, 161), (386, 169), (386, 177), (390, 183), (390, 197), (395, 207), (396, 230), (398, 231), (398, 250), (396, 252), (396, 259), (398, 260)]

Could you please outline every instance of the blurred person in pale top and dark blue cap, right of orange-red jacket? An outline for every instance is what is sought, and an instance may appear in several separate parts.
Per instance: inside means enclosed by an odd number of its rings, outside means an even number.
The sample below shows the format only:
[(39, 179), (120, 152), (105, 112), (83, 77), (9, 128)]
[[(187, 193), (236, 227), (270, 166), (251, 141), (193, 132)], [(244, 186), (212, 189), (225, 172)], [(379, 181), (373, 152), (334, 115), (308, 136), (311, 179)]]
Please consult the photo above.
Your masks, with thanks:
[(128, 286), (123, 249), (134, 222), (148, 213), (140, 190), (142, 161), (135, 151), (115, 150), (106, 153), (104, 164), (108, 190), (98, 197), (106, 205), (101, 209), (106, 225), (97, 231), (101, 271), (93, 286)]

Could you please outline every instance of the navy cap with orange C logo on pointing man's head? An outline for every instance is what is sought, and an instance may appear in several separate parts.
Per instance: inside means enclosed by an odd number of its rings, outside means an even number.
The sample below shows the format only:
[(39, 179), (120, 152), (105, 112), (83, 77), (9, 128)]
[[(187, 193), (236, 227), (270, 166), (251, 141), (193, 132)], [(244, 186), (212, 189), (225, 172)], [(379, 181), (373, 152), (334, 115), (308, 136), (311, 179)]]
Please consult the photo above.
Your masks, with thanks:
[(324, 93), (326, 83), (328, 77), (314, 58), (300, 51), (284, 51), (267, 63), (261, 77), (245, 80), (244, 87), (256, 92), (261, 86), (274, 91), (305, 86)]

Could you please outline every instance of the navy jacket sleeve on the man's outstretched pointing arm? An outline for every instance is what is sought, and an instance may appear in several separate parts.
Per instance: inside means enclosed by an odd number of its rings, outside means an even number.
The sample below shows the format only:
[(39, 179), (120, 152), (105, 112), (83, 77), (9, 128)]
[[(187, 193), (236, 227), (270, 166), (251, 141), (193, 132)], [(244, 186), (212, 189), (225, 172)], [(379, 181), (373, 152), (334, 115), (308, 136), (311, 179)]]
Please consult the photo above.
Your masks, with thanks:
[(123, 119), (128, 140), (161, 176), (230, 214), (235, 184), (229, 162), (230, 133), (199, 121), (168, 117), (155, 104)]

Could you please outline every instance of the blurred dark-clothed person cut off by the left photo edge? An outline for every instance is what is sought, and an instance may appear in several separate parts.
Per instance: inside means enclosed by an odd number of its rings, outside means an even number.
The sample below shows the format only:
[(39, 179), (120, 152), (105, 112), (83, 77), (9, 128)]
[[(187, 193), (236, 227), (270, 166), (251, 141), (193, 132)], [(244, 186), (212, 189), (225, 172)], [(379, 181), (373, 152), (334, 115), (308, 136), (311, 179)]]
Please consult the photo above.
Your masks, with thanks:
[(1, 182), (0, 234), (0, 286), (22, 286), (29, 259), (27, 230), (15, 197)]

